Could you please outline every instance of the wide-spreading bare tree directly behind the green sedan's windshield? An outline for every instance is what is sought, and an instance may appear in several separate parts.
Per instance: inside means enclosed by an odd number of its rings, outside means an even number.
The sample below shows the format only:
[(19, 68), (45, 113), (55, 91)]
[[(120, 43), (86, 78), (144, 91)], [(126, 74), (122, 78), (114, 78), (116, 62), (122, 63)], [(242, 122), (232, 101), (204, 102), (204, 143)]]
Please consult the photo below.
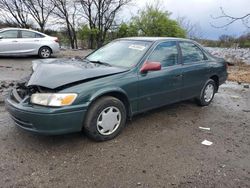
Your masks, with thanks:
[(118, 12), (132, 0), (78, 0), (82, 6), (83, 17), (89, 28), (97, 31), (90, 36), (90, 48), (93, 48), (94, 37), (97, 47), (105, 42), (107, 32), (111, 28)]

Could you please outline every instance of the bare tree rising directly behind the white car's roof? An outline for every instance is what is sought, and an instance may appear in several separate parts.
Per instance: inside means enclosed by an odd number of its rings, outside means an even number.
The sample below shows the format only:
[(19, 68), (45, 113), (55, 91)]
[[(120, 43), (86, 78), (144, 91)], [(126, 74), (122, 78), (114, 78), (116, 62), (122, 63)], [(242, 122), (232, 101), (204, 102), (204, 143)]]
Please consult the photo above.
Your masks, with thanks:
[(49, 0), (20, 0), (26, 6), (27, 13), (30, 14), (44, 32), (49, 16), (54, 10), (54, 4)]

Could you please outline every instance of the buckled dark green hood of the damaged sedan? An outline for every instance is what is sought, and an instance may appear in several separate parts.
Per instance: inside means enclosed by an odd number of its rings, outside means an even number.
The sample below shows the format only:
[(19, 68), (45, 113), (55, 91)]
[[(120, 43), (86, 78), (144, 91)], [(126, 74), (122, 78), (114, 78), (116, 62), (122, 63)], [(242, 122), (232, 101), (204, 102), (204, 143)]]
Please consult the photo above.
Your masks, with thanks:
[(49, 89), (128, 71), (126, 68), (104, 66), (81, 59), (33, 61), (32, 68), (33, 74), (27, 86), (42, 86)]

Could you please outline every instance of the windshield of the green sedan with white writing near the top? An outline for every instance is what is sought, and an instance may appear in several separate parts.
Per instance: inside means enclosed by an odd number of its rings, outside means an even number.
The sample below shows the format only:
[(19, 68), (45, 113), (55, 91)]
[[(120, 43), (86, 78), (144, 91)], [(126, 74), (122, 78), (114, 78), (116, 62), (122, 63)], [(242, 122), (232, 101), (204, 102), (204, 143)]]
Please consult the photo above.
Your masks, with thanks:
[(138, 63), (151, 44), (148, 41), (114, 41), (90, 54), (86, 59), (108, 63), (111, 66), (132, 67)]

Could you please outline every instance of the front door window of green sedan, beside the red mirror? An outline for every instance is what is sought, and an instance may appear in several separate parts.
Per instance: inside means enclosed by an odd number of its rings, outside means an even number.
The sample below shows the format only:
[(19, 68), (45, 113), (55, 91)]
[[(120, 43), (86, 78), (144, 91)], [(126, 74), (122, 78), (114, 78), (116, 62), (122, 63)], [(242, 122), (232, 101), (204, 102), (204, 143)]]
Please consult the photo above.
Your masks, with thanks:
[(160, 62), (162, 67), (168, 67), (177, 64), (178, 49), (176, 42), (168, 41), (160, 43), (149, 56), (148, 61)]

